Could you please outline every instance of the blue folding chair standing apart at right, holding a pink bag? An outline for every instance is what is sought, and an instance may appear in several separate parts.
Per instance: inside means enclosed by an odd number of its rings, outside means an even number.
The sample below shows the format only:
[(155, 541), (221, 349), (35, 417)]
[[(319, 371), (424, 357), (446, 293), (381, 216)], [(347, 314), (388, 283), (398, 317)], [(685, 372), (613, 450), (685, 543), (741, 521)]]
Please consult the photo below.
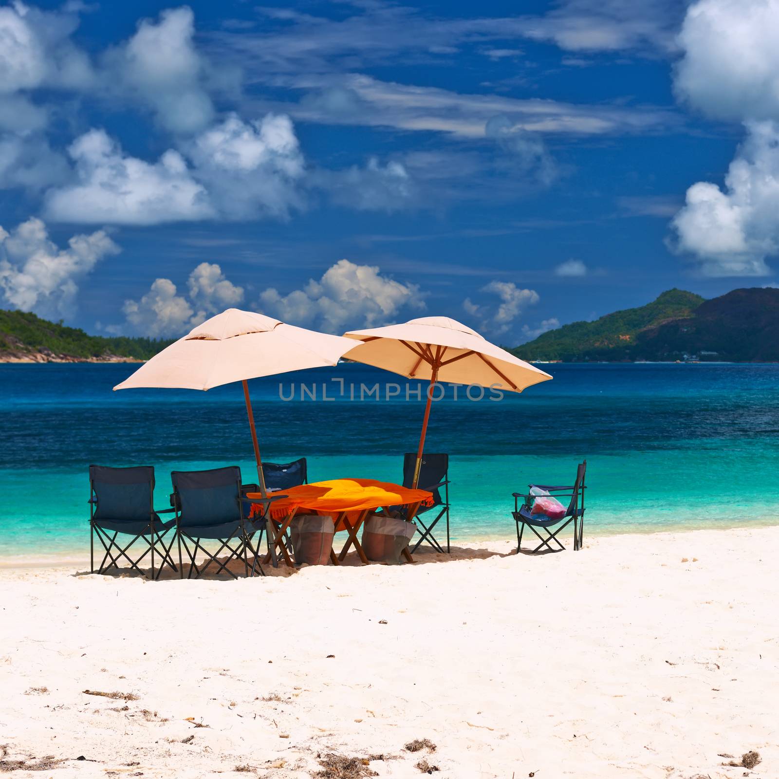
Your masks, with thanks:
[[(527, 495), (522, 492), (514, 492), (514, 510), (512, 515), (516, 522), (516, 553), (520, 553), (522, 546), (522, 534), (524, 533), (525, 526), (530, 527), (530, 530), (536, 534), (541, 541), (536, 548), (532, 550), (532, 553), (538, 552), (541, 548), (548, 548), (549, 552), (559, 552), (565, 547), (560, 543), (557, 534), (568, 527), (573, 522), (573, 550), (577, 552), (582, 547), (583, 534), (584, 534), (584, 474), (587, 472), (587, 460), (580, 463), (576, 468), (576, 481), (573, 485), (559, 486), (559, 485), (528, 485)], [(530, 495), (532, 488), (538, 488), (545, 490), (554, 498), (570, 498), (568, 509), (566, 509), (565, 516), (559, 517), (559, 519), (552, 519), (545, 514), (534, 514), (533, 501), (537, 495)], [(520, 498), (523, 499), (522, 506), (519, 505)], [(562, 523), (562, 524), (560, 524)], [(521, 525), (521, 529), (520, 529)], [(550, 533), (549, 530), (555, 525), (559, 525), (554, 533)], [(546, 538), (538, 532), (543, 530), (546, 534)], [(549, 541), (555, 541), (555, 544), (559, 548), (552, 548), (549, 545)]]

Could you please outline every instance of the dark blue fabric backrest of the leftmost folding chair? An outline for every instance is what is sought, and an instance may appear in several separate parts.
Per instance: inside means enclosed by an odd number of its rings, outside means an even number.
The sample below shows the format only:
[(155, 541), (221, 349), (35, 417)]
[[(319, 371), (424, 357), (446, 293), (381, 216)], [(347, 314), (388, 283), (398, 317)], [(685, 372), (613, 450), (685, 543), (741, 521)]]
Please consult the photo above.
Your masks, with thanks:
[(96, 520), (148, 522), (153, 512), (154, 468), (90, 465), (90, 486), (97, 498)]

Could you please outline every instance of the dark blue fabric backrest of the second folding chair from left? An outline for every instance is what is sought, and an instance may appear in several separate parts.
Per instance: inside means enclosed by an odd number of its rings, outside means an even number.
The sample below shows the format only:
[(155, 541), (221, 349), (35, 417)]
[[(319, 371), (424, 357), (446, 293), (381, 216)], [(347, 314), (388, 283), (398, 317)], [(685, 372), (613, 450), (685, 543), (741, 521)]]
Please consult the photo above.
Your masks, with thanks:
[(241, 520), (241, 469), (171, 471), (180, 524), (190, 527)]

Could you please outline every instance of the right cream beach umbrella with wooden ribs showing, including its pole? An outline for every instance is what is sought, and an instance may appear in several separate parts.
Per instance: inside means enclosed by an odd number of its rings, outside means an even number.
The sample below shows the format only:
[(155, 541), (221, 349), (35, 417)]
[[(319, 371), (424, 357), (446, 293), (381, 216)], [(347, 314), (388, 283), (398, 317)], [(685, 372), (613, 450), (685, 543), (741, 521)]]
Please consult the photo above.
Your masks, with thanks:
[(491, 344), (475, 330), (447, 316), (425, 316), (402, 325), (351, 330), (361, 340), (344, 358), (384, 368), (408, 379), (429, 379), (428, 400), (417, 449), (412, 488), (417, 487), (435, 382), (478, 384), (509, 392), (552, 379), (548, 373)]

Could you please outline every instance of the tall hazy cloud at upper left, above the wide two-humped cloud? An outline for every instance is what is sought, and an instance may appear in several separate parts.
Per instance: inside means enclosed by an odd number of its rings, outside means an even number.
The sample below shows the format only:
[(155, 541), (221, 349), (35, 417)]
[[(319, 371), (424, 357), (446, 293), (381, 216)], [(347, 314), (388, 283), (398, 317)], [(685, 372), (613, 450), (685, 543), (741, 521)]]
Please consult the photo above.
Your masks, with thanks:
[(164, 10), (157, 21), (142, 19), (129, 41), (106, 55), (105, 86), (148, 105), (171, 132), (203, 129), (214, 109), (194, 33), (195, 16), (187, 6)]

